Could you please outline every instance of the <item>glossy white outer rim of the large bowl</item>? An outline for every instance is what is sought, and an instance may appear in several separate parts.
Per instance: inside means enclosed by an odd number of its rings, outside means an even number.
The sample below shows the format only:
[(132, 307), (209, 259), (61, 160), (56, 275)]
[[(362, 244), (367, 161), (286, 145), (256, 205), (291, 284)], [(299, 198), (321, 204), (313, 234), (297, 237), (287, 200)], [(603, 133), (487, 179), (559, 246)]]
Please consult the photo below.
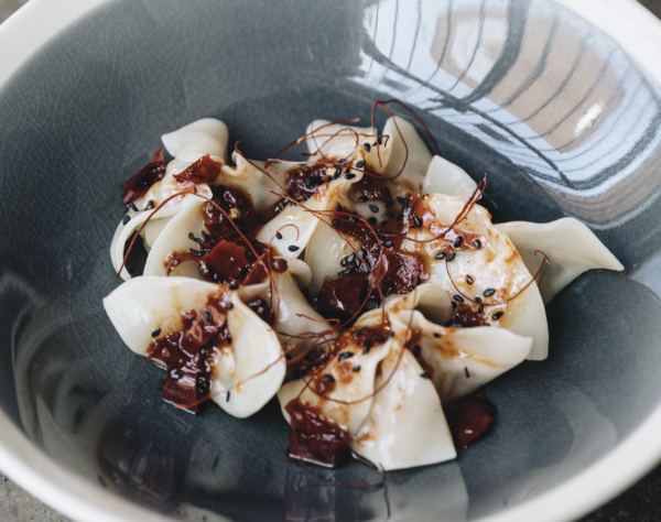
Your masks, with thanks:
[[(30, 0), (0, 24), (0, 89), (53, 36), (112, 0)], [(637, 0), (550, 0), (611, 37), (661, 85), (661, 20)], [(475, 522), (575, 520), (629, 488), (661, 460), (661, 404), (638, 428), (570, 480), (541, 496)], [(0, 468), (15, 483), (65, 515), (80, 521), (172, 519), (106, 491), (57, 464), (0, 411)], [(218, 521), (229, 519), (217, 515)]]

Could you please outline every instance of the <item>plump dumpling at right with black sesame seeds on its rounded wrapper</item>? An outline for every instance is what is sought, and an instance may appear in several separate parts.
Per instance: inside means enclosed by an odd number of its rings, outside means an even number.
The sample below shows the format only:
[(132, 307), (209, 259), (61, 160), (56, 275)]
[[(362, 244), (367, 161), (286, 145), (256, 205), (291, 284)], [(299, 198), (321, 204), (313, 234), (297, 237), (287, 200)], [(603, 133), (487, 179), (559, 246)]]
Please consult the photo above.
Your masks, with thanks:
[[(422, 202), (425, 208), (424, 226), (412, 228), (409, 232), (410, 237), (416, 239), (431, 239), (445, 230), (466, 203), (462, 198), (442, 194), (425, 195)], [(487, 324), (491, 327), (507, 328), (522, 337), (532, 337), (533, 345), (528, 358), (545, 359), (549, 352), (549, 327), (544, 303), (537, 284), (534, 282), (529, 284), (532, 274), (508, 236), (491, 224), (491, 216), (479, 205), (475, 205), (468, 217), (455, 228), (479, 233), (486, 239), (487, 244), (479, 250), (470, 246), (455, 249), (453, 252), (456, 257), (449, 263), (434, 258), (443, 244), (441, 241), (426, 243), (404, 241), (404, 248), (416, 250), (429, 260), (430, 282), (440, 284), (453, 295), (457, 293), (454, 286), (456, 284), (462, 293), (470, 298), (481, 296), (485, 302), (484, 317)], [(447, 270), (454, 284), (447, 275)], [(472, 276), (473, 284), (468, 284), (467, 275)], [(527, 284), (529, 286), (507, 304), (486, 306), (489, 302), (496, 303), (513, 297)], [(484, 292), (489, 289), (495, 290), (496, 293), (484, 297)], [(503, 315), (499, 319), (494, 319), (494, 314), (498, 312), (502, 312)]]

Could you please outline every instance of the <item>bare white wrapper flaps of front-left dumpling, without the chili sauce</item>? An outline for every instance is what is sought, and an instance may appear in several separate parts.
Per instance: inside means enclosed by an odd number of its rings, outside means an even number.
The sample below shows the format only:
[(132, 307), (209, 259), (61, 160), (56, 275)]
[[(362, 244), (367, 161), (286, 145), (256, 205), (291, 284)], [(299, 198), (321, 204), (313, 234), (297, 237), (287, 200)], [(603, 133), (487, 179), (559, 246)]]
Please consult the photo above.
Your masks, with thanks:
[[(128, 281), (104, 300), (104, 307), (116, 330), (136, 354), (148, 356), (152, 331), (165, 336), (183, 328), (182, 313), (202, 312), (209, 295), (224, 293), (226, 286), (188, 278), (142, 276)], [(227, 413), (247, 417), (259, 411), (278, 392), (286, 371), (285, 359), (273, 329), (232, 292), (234, 307), (227, 324), (234, 338), (234, 357), (221, 355), (214, 368), (213, 400)], [(242, 382), (273, 363), (263, 374)], [(238, 385), (237, 385), (238, 384)], [(231, 390), (230, 401), (219, 391)]]

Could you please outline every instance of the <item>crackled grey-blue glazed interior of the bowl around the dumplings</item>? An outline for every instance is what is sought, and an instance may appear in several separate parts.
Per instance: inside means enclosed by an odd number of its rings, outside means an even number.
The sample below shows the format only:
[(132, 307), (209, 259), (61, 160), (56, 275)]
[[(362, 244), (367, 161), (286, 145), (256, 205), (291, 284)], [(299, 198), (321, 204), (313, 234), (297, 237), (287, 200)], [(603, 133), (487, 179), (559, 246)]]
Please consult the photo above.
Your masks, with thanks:
[[(121, 184), (162, 133), (215, 117), (264, 159), (313, 119), (367, 122), (372, 97), (414, 106), (446, 159), (488, 173), (495, 222), (576, 217), (626, 271), (586, 273), (551, 303), (550, 357), (486, 388), (499, 414), (480, 444), (342, 489), (288, 460), (275, 401), (248, 420), (163, 403), (162, 373), (101, 298), (119, 284)], [(90, 483), (184, 520), (507, 512), (661, 402), (660, 126), (658, 86), (550, 1), (108, 1), (0, 91), (0, 406)], [(316, 472), (380, 480), (360, 464)]]

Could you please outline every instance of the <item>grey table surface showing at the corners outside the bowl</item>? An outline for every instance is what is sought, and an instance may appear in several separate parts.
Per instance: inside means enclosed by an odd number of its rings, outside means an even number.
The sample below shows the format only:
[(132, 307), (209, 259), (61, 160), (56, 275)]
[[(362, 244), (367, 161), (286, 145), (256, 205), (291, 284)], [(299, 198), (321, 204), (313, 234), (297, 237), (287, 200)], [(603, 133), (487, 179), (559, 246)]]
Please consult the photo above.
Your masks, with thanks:
[[(661, 18), (661, 0), (639, 0)], [(28, 0), (0, 0), (0, 23)], [(579, 522), (657, 522), (661, 520), (661, 466)], [(0, 474), (0, 520), (3, 522), (71, 522)]]

